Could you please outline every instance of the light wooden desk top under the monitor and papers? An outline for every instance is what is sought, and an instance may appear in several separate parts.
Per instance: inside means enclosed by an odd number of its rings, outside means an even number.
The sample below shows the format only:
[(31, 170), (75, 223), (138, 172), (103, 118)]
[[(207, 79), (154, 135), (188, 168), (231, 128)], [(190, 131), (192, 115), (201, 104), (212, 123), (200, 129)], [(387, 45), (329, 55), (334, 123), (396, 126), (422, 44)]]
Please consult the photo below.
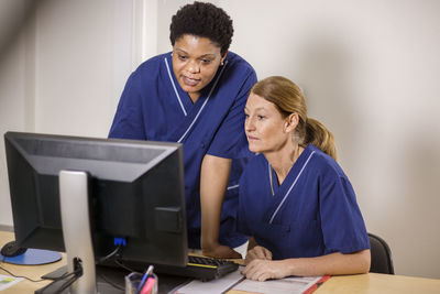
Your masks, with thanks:
[[(14, 236), (12, 232), (0, 231), (0, 247), (8, 241), (13, 240)], [(63, 254), (63, 259), (58, 262), (45, 265), (13, 265), (9, 263), (2, 263), (1, 265), (14, 274), (21, 274), (29, 276), (34, 280), (38, 280), (41, 275), (48, 273), (66, 264), (66, 258)], [(8, 274), (0, 270), (1, 274)], [(1, 294), (12, 293), (33, 293), (35, 290), (48, 284), (48, 281), (33, 283), (30, 281), (22, 281)], [(161, 277), (160, 277), (161, 283)], [(351, 293), (399, 293), (399, 294), (413, 294), (413, 293), (440, 293), (440, 280), (413, 277), (404, 275), (388, 275), (388, 274), (358, 274), (358, 275), (345, 275), (345, 276), (332, 276), (330, 280), (324, 282), (316, 292), (316, 294), (351, 294)], [(229, 291), (228, 294), (249, 294), (249, 292), (241, 291)]]

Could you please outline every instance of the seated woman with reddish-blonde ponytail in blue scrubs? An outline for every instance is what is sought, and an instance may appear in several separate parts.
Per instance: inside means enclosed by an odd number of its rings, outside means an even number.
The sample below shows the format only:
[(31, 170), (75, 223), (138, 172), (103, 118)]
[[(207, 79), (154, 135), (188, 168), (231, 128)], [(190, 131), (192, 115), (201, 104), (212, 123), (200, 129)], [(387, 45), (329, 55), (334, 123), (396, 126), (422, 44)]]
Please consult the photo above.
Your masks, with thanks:
[(265, 281), (370, 270), (370, 242), (332, 133), (307, 117), (284, 77), (256, 83), (244, 109), (250, 161), (240, 182), (239, 230), (251, 236), (243, 274)]

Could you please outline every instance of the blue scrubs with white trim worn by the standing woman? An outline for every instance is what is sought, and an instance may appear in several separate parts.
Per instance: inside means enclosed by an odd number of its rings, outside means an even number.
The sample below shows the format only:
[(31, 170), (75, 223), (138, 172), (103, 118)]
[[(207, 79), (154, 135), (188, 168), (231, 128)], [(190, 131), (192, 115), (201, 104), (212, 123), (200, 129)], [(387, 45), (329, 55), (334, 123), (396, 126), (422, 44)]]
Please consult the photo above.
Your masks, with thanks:
[(200, 166), (205, 154), (232, 159), (219, 242), (242, 244), (237, 231), (239, 179), (251, 153), (243, 131), (243, 109), (256, 81), (254, 69), (229, 52), (212, 81), (193, 104), (173, 73), (172, 55), (139, 66), (122, 92), (110, 138), (179, 142), (184, 145), (188, 246), (200, 248)]

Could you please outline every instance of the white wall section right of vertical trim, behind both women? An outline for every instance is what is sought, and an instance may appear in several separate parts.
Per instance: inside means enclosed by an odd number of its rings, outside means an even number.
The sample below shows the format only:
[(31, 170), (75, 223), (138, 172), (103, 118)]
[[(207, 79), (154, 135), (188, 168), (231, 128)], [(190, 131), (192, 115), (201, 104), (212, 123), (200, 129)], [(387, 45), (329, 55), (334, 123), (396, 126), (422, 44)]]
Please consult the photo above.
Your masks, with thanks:
[[(191, 1), (158, 2), (165, 52), (170, 17)], [(440, 279), (440, 2), (211, 2), (232, 17), (231, 50), (258, 78), (284, 75), (305, 89), (396, 272)]]

